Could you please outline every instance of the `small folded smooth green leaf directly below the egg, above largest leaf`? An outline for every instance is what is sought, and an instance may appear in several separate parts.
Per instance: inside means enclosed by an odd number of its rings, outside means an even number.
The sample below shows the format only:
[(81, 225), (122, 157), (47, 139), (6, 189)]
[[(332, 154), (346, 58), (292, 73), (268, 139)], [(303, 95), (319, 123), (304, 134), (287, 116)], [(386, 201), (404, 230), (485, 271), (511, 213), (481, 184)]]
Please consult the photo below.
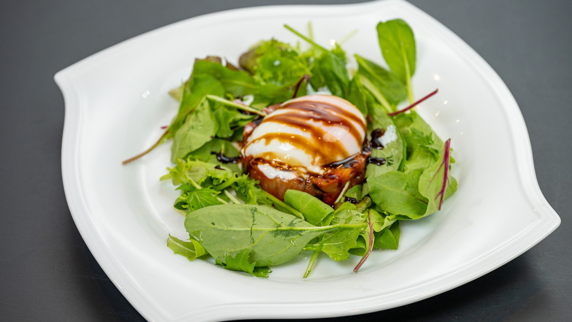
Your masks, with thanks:
[(320, 226), (324, 218), (333, 213), (332, 207), (313, 197), (313, 195), (298, 190), (286, 190), (284, 202), (304, 215), (305, 221), (314, 226)]

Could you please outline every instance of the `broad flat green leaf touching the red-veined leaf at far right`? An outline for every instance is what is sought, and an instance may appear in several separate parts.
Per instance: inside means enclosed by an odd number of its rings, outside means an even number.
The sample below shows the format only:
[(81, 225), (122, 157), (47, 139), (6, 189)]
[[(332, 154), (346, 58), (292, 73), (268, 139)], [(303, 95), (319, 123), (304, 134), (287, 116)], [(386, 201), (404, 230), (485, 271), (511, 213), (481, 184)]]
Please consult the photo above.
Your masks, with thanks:
[(411, 219), (423, 217), (427, 210), (427, 198), (419, 193), (421, 171), (390, 171), (367, 179), (372, 201), (391, 214), (405, 215)]

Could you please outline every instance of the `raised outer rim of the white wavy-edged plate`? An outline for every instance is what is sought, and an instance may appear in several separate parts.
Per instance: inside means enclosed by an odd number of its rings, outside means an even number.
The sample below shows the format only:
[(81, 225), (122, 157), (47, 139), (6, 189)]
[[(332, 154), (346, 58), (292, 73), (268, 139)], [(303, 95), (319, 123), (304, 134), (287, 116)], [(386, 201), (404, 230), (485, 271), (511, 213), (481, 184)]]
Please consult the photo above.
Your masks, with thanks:
[[(370, 9), (375, 10), (377, 7), (386, 7), (388, 5), (399, 6), (403, 10), (408, 10), (419, 16), (419, 19), (428, 23), (432, 28), (435, 28), (438, 33), (437, 35), (442, 38), (443, 41), (447, 42), (452, 48), (456, 49), (456, 53), (460, 54), (468, 64), (482, 76), (489, 85), (491, 85), (492, 91), (501, 101), (501, 106), (503, 113), (506, 116), (507, 123), (509, 123), (510, 133), (512, 136), (512, 143), (515, 147), (515, 156), (517, 156), (517, 172), (520, 179), (523, 192), (526, 197), (529, 198), (531, 205), (535, 208), (538, 215), (541, 215), (541, 221), (537, 221), (529, 225), (525, 230), (521, 231), (519, 235), (514, 236), (508, 241), (505, 241), (503, 246), (499, 246), (494, 252), (488, 253), (488, 256), (497, 256), (500, 259), (495, 261), (488, 261), (488, 265), (484, 265), (480, 269), (471, 270), (472, 267), (479, 261), (472, 261), (470, 264), (464, 265), (458, 271), (454, 273), (441, 276), (436, 280), (426, 282), (424, 284), (434, 284), (437, 282), (439, 285), (439, 280), (450, 279), (451, 282), (440, 283), (440, 287), (433, 287), (432, 292), (426, 292), (422, 296), (409, 296), (403, 298), (399, 301), (394, 301), (389, 304), (376, 304), (376, 305), (362, 305), (359, 310), (348, 311), (347, 309), (336, 308), (336, 305), (331, 305), (331, 309), (326, 310), (325, 308), (319, 311), (302, 311), (301, 312), (287, 312), (284, 310), (286, 305), (293, 304), (223, 304), (217, 306), (217, 312), (213, 313), (212, 308), (208, 308), (208, 312), (204, 312), (202, 315), (201, 311), (195, 311), (189, 313), (189, 315), (170, 316), (167, 312), (162, 310), (162, 308), (157, 308), (154, 303), (147, 296), (145, 292), (141, 289), (134, 289), (136, 285), (129, 284), (129, 278), (126, 276), (128, 273), (125, 269), (121, 267), (121, 264), (112, 259), (109, 247), (105, 245), (102, 237), (97, 234), (97, 230), (94, 229), (93, 223), (89, 220), (89, 209), (86, 205), (82, 194), (81, 194), (81, 182), (79, 176), (78, 168), (78, 158), (77, 158), (77, 144), (80, 139), (80, 124), (82, 119), (82, 107), (86, 106), (85, 99), (81, 96), (81, 88), (78, 83), (74, 81), (74, 74), (81, 72), (84, 68), (91, 64), (96, 64), (101, 60), (106, 60), (109, 56), (112, 56), (114, 52), (120, 51), (124, 46), (129, 46), (132, 42), (140, 41), (142, 38), (147, 38), (152, 35), (167, 32), (169, 29), (177, 28), (178, 25), (184, 24), (189, 21), (194, 23), (211, 23), (212, 21), (225, 19), (229, 16), (234, 16), (236, 14), (250, 14), (259, 15), (268, 10), (292, 10), (299, 7), (304, 7), (304, 9), (312, 10), (319, 8), (320, 10), (329, 10), (332, 13), (338, 12), (341, 8), (353, 7), (355, 9)], [(82, 238), (90, 252), (96, 258), (98, 263), (101, 265), (104, 272), (108, 275), (110, 280), (116, 285), (120, 292), (125, 296), (125, 298), (141, 313), (145, 319), (148, 320), (164, 320), (164, 321), (182, 321), (189, 319), (192, 315), (194, 320), (200, 319), (201, 321), (220, 321), (224, 319), (264, 319), (264, 318), (313, 318), (313, 317), (333, 317), (333, 316), (347, 316), (356, 315), (368, 312), (382, 311), (384, 309), (399, 307), (402, 305), (414, 303), (428, 297), (435, 296), (436, 294), (446, 292), (447, 290), (456, 288), (460, 285), (466, 284), (483, 276), (484, 274), (491, 272), (492, 270), (499, 268), (500, 266), (506, 264), (507, 262), (518, 257), (522, 253), (529, 250), (538, 242), (542, 241), (547, 235), (552, 233), (561, 223), (561, 219), (558, 214), (552, 209), (549, 203), (546, 201), (545, 197), (540, 190), (538, 185), (537, 177), (534, 170), (534, 160), (532, 154), (532, 148), (530, 144), (529, 133), (526, 129), (525, 120), (522, 113), (518, 107), (516, 100), (511, 94), (509, 88), (501, 80), (501, 77), (496, 74), (494, 69), (478, 53), (475, 52), (466, 42), (459, 38), (455, 33), (446, 26), (442, 25), (435, 18), (424, 11), (418, 9), (411, 3), (404, 0), (377, 0), (372, 2), (364, 3), (353, 3), (345, 5), (279, 5), (279, 6), (259, 6), (259, 7), (247, 7), (240, 9), (231, 9), (220, 11), (216, 13), (209, 13), (205, 15), (200, 15), (197, 17), (192, 17), (184, 19), (182, 21), (171, 23), (170, 25), (163, 26), (151, 30), (149, 32), (140, 34), (139, 36), (130, 38), (119, 44), (110, 46), (107, 49), (101, 50), (91, 56), (78, 61), (65, 69), (60, 70), (54, 76), (55, 83), (61, 89), (61, 92), (65, 101), (65, 119), (63, 125), (63, 135), (62, 135), (62, 153), (61, 153), (61, 163), (62, 163), (62, 180), (63, 187), (66, 195), (66, 201), (72, 214), (72, 218)], [(530, 231), (534, 231), (530, 234)], [(526, 235), (526, 239), (525, 239)], [(520, 245), (520, 246), (519, 246)], [(509, 255), (503, 255), (499, 253), (509, 253)], [(466, 271), (471, 270), (471, 274), (467, 274)], [(452, 278), (455, 275), (460, 275), (462, 278)], [(126, 287), (126, 286), (130, 286)], [(417, 287), (417, 286), (416, 286)], [(405, 292), (407, 289), (399, 290), (398, 292)], [(397, 293), (397, 292), (396, 292)], [(356, 300), (343, 300), (344, 302), (349, 301), (362, 301), (362, 299)], [(339, 302), (331, 302), (330, 304), (335, 304)], [(309, 304), (309, 303), (308, 303)], [(296, 304), (299, 305), (299, 304)], [(310, 305), (310, 304), (309, 304)], [(315, 305), (315, 304), (312, 304)], [(328, 305), (327, 303), (320, 303), (321, 307)], [(256, 310), (255, 308), (264, 308), (263, 310)], [(272, 311), (272, 313), (267, 313)], [(216, 316), (215, 316), (216, 314)]]

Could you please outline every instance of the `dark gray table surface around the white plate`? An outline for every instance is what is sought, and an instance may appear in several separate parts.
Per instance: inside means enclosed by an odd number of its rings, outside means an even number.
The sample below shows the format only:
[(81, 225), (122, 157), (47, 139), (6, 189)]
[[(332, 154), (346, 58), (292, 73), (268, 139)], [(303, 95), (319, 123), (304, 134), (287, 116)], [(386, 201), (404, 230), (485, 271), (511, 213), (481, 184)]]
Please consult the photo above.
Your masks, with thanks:
[[(63, 99), (53, 81), (55, 72), (133, 36), (200, 14), (336, 2), (1, 1), (0, 320), (144, 321), (94, 260), (69, 213), (60, 170)], [(538, 182), (562, 225), (533, 249), (475, 281), (358, 317), (572, 320), (572, 2), (412, 3), (463, 38), (508, 85), (526, 120)]]

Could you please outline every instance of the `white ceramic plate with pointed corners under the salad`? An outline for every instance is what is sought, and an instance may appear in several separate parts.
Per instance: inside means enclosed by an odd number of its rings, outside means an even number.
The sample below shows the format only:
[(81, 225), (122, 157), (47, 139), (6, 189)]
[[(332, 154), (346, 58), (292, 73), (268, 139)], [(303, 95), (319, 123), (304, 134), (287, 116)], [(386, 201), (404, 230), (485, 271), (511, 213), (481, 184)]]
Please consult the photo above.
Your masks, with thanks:
[[(295, 43), (283, 28), (344, 44), (380, 64), (380, 20), (403, 18), (418, 44), (413, 78), (418, 107), (452, 138), (459, 189), (439, 213), (403, 222), (399, 250), (359, 260), (319, 258), (303, 279), (308, 255), (275, 266), (268, 279), (188, 261), (166, 247), (185, 238), (172, 184), (159, 182), (169, 144), (128, 166), (150, 146), (177, 103), (167, 94), (188, 77), (194, 57), (235, 61), (260, 39)], [(269, 6), (202, 15), (94, 54), (55, 75), (65, 98), (62, 174), (67, 203), (86, 244), (131, 304), (153, 321), (220, 321), (353, 315), (398, 307), (455, 288), (498, 268), (556, 229), (560, 218), (534, 174), (525, 122), (491, 67), (459, 37), (407, 2), (339, 6)]]

